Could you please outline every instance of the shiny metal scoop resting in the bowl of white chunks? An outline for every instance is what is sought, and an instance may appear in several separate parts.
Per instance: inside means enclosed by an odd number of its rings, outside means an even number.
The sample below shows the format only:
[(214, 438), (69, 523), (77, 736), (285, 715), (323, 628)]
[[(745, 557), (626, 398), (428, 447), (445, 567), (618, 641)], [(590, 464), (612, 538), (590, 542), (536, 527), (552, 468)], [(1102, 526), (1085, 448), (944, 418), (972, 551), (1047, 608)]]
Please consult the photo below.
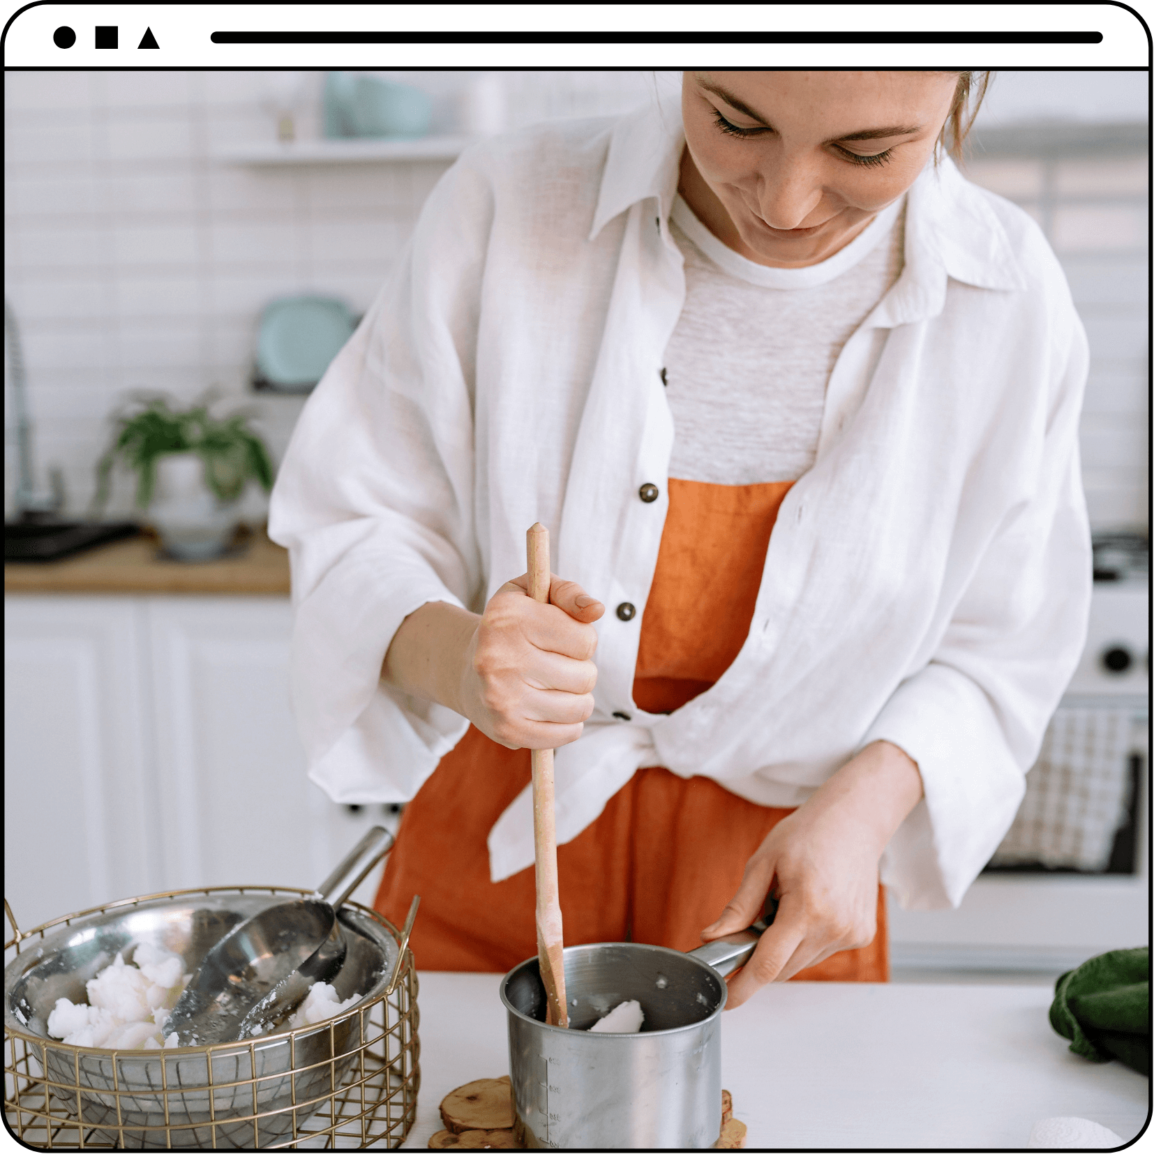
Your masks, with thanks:
[(180, 995), (164, 1024), (165, 1037), (213, 1046), (255, 1036), (293, 1010), (314, 982), (335, 976), (345, 960), (337, 908), (391, 847), (392, 834), (374, 825), (315, 894), (234, 926)]

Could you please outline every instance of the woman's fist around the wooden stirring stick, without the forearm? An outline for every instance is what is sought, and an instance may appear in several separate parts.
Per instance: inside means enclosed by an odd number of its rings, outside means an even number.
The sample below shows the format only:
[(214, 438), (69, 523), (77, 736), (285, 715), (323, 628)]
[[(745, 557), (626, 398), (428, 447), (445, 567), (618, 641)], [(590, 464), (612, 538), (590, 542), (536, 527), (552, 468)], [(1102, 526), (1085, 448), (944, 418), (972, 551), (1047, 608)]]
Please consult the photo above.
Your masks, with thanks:
[(502, 585), (465, 651), (460, 712), (508, 749), (576, 741), (593, 712), (593, 622), (604, 613), (600, 601), (555, 575), (545, 604), (529, 595), (527, 574)]

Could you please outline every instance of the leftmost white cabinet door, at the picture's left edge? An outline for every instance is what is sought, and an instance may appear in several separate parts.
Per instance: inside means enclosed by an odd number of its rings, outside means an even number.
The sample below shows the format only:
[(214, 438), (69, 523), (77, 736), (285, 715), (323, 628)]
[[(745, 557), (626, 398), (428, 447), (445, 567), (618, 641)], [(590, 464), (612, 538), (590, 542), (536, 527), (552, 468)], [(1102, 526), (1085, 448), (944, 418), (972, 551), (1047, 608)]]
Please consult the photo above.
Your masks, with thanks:
[(138, 602), (5, 599), (5, 892), (21, 927), (160, 887)]

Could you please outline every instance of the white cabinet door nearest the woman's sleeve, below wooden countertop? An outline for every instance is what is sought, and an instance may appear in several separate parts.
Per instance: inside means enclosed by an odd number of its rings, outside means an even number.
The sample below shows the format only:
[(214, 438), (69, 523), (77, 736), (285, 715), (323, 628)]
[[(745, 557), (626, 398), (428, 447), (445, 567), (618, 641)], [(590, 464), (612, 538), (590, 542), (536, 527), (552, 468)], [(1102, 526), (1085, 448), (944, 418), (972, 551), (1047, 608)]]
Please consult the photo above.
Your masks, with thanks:
[(148, 602), (167, 884), (315, 886), (332, 804), (306, 777), (284, 598)]

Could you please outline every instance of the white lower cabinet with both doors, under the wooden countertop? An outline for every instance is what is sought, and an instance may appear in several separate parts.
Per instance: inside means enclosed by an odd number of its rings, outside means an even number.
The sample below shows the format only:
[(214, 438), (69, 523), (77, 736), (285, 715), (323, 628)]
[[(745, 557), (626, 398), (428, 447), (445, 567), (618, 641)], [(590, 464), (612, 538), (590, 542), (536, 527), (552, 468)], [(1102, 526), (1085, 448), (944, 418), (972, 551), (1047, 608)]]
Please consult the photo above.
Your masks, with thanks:
[(312, 887), (396, 823), (306, 777), (285, 598), (9, 595), (5, 625), (5, 889), (23, 928), (159, 890)]

